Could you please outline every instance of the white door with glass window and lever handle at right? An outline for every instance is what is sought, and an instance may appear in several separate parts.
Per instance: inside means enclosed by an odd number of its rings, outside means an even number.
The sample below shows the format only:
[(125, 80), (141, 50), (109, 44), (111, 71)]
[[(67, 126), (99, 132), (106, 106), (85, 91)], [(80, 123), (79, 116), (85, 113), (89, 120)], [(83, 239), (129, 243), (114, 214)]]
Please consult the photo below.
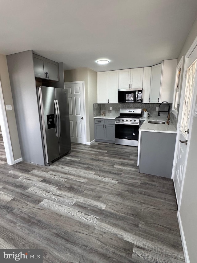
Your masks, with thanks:
[[(194, 55), (194, 54), (193, 54)], [(196, 56), (197, 58), (197, 56)], [(194, 87), (196, 77), (196, 58), (189, 57), (186, 60), (187, 76), (185, 88), (182, 86), (181, 103), (179, 112), (182, 110), (181, 121), (177, 131), (177, 141), (175, 150), (175, 169), (173, 172), (173, 180), (175, 185), (175, 193), (177, 203), (179, 205), (181, 198), (181, 189), (183, 184), (183, 178), (187, 163), (187, 152), (190, 142), (191, 134), (191, 109), (194, 103)], [(189, 130), (188, 130), (189, 129)], [(188, 131), (188, 132), (187, 132)]]

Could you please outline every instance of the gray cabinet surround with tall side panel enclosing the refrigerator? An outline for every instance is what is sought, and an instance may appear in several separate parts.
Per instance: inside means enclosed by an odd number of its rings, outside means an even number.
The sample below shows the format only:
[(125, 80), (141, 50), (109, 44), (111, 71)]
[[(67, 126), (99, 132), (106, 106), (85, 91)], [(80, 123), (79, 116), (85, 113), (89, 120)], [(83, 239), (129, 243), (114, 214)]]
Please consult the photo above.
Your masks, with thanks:
[[(6, 58), (22, 159), (45, 165), (37, 88), (40, 86), (64, 88), (63, 63), (42, 58), (35, 55), (32, 50), (7, 55)], [(42, 64), (43, 72), (41, 68), (39, 70), (39, 63)]]

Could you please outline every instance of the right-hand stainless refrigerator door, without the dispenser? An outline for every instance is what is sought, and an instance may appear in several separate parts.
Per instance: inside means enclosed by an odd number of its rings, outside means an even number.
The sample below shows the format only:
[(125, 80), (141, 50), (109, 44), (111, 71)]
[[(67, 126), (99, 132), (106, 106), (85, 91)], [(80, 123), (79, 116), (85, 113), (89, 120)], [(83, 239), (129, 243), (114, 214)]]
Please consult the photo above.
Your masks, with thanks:
[(59, 151), (60, 156), (71, 150), (68, 94), (63, 88), (55, 88), (55, 97), (59, 107)]

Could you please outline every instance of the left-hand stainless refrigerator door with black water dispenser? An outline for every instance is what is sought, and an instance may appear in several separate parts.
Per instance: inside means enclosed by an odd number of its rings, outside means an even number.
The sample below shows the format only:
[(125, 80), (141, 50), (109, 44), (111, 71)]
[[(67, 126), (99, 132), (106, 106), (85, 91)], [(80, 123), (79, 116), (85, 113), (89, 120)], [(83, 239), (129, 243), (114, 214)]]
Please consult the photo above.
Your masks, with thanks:
[(58, 123), (58, 113), (55, 107), (55, 88), (43, 87), (39, 90), (42, 131), (46, 163), (51, 163), (60, 156), (59, 139), (56, 136), (55, 123)]

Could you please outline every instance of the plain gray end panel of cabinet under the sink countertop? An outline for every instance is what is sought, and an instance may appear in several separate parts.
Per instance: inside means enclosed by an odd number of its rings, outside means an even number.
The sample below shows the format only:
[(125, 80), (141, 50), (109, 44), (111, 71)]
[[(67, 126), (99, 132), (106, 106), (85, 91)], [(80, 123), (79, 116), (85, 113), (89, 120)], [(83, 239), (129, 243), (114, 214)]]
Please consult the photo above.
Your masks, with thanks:
[(141, 133), (139, 172), (171, 178), (176, 134)]

